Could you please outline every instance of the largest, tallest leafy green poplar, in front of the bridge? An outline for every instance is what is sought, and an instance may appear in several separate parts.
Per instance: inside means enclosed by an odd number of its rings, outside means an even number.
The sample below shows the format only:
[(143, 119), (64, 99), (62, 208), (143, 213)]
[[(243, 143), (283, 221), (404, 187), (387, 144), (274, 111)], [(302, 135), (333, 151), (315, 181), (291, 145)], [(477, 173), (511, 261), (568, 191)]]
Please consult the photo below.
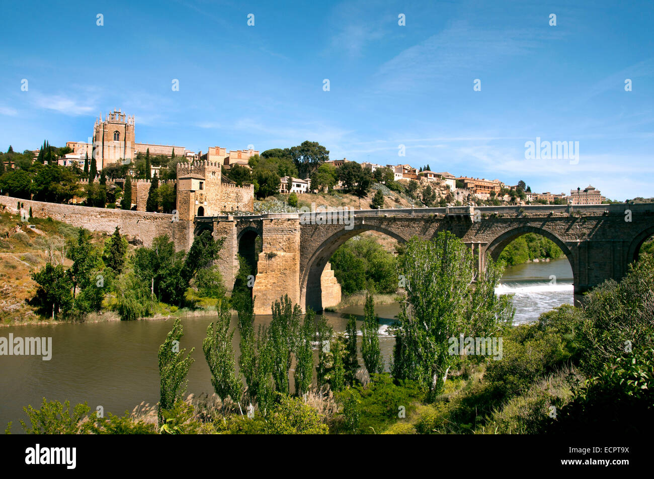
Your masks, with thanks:
[[(485, 295), (470, 295), (475, 278), (474, 259), (468, 247), (449, 232), (434, 240), (412, 239), (400, 259), (407, 299), (398, 315), (393, 375), (411, 379), (438, 395), (457, 356), (449, 354), (449, 339), (472, 329), (466, 312), (488, 308)], [(496, 286), (496, 285), (493, 285)], [(494, 318), (494, 324), (509, 322)], [(479, 331), (479, 336), (491, 331)]]

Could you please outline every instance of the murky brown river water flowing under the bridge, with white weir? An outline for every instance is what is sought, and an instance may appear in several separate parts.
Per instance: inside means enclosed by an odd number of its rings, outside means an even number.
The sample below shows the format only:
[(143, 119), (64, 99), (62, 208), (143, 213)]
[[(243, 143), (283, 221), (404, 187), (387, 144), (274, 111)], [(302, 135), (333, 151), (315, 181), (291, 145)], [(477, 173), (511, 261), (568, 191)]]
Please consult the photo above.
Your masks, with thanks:
[[(551, 280), (551, 276), (555, 280)], [(502, 276), (498, 294), (513, 293), (515, 323), (536, 320), (542, 312), (573, 302), (572, 269), (564, 258), (510, 267)], [(390, 363), (394, 338), (387, 333), (400, 306), (379, 305), (379, 344), (385, 364)], [(327, 312), (336, 331), (344, 331), (349, 314), (362, 319), (363, 306)], [(188, 374), (188, 392), (211, 392), (209, 367), (202, 354), (202, 339), (213, 316), (185, 318), (180, 347), (195, 348), (196, 359)], [(258, 316), (268, 323), (270, 316)], [(360, 321), (358, 322), (360, 329)], [(26, 325), (0, 329), (0, 336), (52, 337), (52, 359), (41, 356), (0, 356), (0, 431), (13, 421), (13, 433), (22, 432), (18, 420), (27, 420), (23, 406), (39, 407), (66, 399), (71, 405), (88, 401), (90, 408), (103, 406), (105, 414), (122, 414), (145, 401), (154, 405), (159, 397), (157, 352), (173, 326), (173, 320), (105, 322), (90, 324)], [(235, 327), (235, 318), (232, 326)], [(233, 346), (238, 350), (238, 333)], [(362, 361), (360, 361), (362, 363)]]

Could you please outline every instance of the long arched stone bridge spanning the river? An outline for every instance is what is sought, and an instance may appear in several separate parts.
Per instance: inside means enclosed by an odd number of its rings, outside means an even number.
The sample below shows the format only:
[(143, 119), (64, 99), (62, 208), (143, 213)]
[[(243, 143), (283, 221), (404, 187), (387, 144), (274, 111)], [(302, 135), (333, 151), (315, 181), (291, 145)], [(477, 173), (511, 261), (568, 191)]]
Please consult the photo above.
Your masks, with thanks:
[(654, 235), (654, 204), (457, 206), (351, 214), (345, 221), (342, 215), (326, 219), (320, 212), (201, 217), (194, 234), (209, 229), (216, 239), (224, 238), (219, 264), (228, 289), (239, 270), (237, 255), (256, 265), (256, 314), (270, 314), (273, 301), (284, 294), (303, 309), (336, 305), (340, 286), (326, 266), (341, 244), (364, 231), (380, 231), (400, 242), (451, 231), (471, 248), (478, 269), (488, 257), (497, 259), (512, 240), (538, 233), (570, 261), (575, 293), (608, 278), (619, 280), (641, 244)]

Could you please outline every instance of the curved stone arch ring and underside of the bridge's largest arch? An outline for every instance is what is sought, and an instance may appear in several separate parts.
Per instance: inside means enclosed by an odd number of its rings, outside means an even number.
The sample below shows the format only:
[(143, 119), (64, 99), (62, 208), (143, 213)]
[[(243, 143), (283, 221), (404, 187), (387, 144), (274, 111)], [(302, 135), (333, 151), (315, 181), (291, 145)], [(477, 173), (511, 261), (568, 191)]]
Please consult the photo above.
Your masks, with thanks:
[(323, 240), (312, 252), (309, 261), (307, 261), (303, 271), (301, 271), (300, 303), (303, 310), (311, 308), (314, 311), (321, 311), (323, 309), (320, 276), (322, 276), (325, 265), (328, 263), (330, 257), (332, 257), (332, 254), (347, 240), (365, 231), (379, 231), (379, 233), (384, 233), (399, 242), (404, 243), (407, 241), (407, 239), (392, 231), (392, 229), (387, 229), (377, 224), (365, 224), (364, 222), (356, 222), (352, 229), (340, 229)]

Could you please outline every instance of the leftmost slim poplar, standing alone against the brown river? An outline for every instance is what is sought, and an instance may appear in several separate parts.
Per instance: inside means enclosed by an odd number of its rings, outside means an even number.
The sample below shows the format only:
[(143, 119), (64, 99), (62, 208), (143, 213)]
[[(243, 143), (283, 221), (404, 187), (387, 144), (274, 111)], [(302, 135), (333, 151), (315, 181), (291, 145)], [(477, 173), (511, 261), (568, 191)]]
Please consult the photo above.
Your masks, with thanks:
[(185, 349), (180, 350), (179, 343), (183, 335), (182, 322), (177, 318), (173, 329), (159, 348), (160, 400), (158, 415), (160, 423), (163, 419), (162, 411), (173, 408), (177, 401), (183, 399), (186, 392), (186, 376), (194, 361), (191, 355), (195, 348), (191, 348), (188, 354)]

